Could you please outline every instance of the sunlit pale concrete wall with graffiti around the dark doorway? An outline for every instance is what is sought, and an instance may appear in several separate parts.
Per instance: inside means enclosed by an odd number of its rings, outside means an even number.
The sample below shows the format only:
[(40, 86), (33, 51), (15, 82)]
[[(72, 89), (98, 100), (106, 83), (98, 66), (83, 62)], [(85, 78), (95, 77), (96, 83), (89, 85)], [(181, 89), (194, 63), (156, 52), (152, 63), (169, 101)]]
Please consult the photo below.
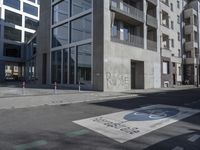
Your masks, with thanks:
[(161, 85), (159, 49), (158, 52), (152, 52), (111, 42), (109, 4), (108, 0), (104, 0), (104, 90), (131, 89), (131, 60), (144, 62), (144, 88), (159, 88)]

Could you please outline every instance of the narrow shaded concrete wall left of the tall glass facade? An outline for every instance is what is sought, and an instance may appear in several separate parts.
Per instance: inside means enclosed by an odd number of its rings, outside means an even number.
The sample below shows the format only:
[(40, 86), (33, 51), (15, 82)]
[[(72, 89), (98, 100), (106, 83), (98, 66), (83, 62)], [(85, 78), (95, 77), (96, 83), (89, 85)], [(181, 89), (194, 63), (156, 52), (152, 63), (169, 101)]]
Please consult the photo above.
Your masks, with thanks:
[(38, 84), (42, 84), (43, 54), (47, 54), (47, 84), (50, 84), (50, 22), (51, 22), (51, 2), (42, 0), (40, 5), (40, 26), (38, 29), (38, 48), (36, 57), (36, 77)]

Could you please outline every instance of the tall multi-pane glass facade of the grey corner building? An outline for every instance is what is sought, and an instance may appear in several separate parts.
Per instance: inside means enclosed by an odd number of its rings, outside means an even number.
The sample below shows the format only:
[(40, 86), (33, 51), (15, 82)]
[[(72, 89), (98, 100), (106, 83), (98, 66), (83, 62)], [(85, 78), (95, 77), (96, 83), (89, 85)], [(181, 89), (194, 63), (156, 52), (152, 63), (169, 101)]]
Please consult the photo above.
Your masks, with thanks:
[(91, 8), (92, 0), (63, 0), (52, 5), (52, 83), (91, 85)]

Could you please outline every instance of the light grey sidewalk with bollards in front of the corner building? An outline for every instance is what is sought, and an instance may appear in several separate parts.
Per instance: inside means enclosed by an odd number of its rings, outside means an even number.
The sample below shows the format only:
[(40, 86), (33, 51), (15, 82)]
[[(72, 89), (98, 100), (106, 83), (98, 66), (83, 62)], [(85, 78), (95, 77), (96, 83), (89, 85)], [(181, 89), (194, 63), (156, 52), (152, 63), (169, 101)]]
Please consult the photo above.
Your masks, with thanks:
[[(78, 92), (75, 90), (58, 90), (57, 94), (53, 94), (52, 89), (26, 89), (25, 92), (29, 91), (29, 93), (26, 93), (24, 96), (13, 95), (10, 97), (0, 98), (0, 109), (27, 108), (27, 107), (37, 107), (43, 105), (64, 105), (64, 104), (72, 104), (72, 103), (88, 102), (88, 101), (122, 99), (122, 98), (137, 97), (139, 95), (148, 93), (149, 94), (163, 93), (168, 91), (186, 90), (186, 89), (192, 89), (192, 87), (132, 90), (126, 92), (94, 92), (94, 91)], [(19, 92), (20, 90), (21, 90), (20, 88), (0, 87), (1, 91), (0, 96), (2, 95), (5, 96), (6, 93)]]

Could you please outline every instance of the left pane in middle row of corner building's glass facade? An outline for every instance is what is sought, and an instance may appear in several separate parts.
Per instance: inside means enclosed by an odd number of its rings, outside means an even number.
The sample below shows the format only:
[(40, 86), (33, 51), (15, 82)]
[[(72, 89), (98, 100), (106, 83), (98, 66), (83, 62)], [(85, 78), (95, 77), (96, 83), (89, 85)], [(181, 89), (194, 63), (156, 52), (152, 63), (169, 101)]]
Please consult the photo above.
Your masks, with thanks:
[(52, 47), (68, 44), (68, 24), (63, 24), (53, 29)]

